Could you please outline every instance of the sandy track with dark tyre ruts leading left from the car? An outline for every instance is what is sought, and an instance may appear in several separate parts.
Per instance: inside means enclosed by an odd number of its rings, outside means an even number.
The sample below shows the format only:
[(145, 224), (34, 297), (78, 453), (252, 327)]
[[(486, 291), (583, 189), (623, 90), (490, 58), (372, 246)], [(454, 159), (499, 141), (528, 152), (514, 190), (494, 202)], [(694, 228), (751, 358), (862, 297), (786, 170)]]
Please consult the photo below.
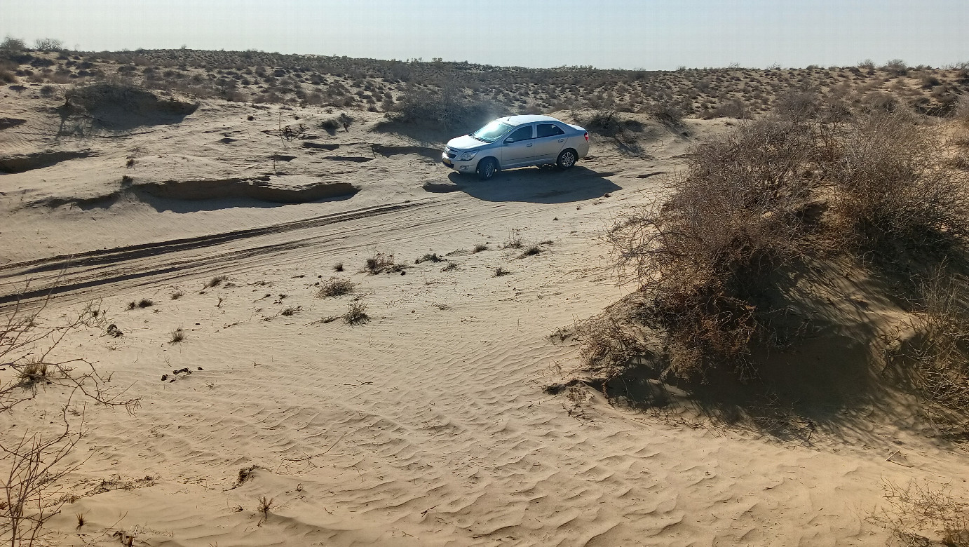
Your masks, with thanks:
[(392, 246), (400, 238), (419, 240), (472, 228), (477, 232), (500, 228), (506, 221), (509, 227), (520, 226), (540, 208), (431, 194), (420, 201), (36, 259), (0, 268), (0, 306), (47, 294), (70, 304), (185, 277), (241, 273), (347, 248)]

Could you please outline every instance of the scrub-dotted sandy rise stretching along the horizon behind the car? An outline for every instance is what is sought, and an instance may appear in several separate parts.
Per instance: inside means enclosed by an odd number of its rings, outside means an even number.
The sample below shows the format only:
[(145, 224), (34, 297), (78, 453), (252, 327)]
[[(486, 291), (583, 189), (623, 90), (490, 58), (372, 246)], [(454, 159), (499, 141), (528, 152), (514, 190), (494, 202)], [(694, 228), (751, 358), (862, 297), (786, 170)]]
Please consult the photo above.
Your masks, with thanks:
[(420, 121), (454, 132), (504, 113), (591, 109), (598, 113), (590, 117), (590, 125), (621, 142), (636, 127), (616, 113), (644, 113), (676, 126), (684, 117), (758, 117), (776, 107), (796, 107), (804, 96), (818, 96), (833, 109), (902, 107), (940, 115), (953, 112), (969, 85), (965, 64), (909, 67), (899, 59), (878, 66), (862, 61), (828, 68), (630, 71), (255, 50), (69, 51), (54, 39), (36, 46), (27, 48), (16, 38), (0, 45), (0, 80), (26, 80), (38, 84), (38, 90), (44, 83), (67, 85), (63, 95), (68, 104), (105, 93), (131, 100), (144, 89), (194, 99), (343, 110), (321, 122), (330, 133), (347, 130), (353, 110), (387, 113), (391, 122)]

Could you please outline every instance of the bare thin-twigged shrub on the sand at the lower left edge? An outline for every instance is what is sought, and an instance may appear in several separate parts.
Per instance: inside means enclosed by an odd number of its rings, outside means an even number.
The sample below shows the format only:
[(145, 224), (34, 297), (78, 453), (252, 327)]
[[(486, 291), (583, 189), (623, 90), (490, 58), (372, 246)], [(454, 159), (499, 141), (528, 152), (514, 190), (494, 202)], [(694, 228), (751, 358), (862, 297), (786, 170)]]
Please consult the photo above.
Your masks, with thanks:
[[(63, 394), (64, 404), (54, 433), (28, 427), (0, 437), (0, 537), (11, 545), (44, 545), (49, 540), (47, 521), (57, 515), (69, 498), (62, 492), (64, 478), (83, 460), (72, 453), (85, 433), (83, 415), (68, 411), (73, 399), (129, 411), (137, 399), (115, 395), (110, 377), (99, 374), (83, 358), (58, 359), (58, 346), (71, 333), (107, 329), (104, 310), (89, 304), (65, 321), (48, 322), (43, 313), (48, 300), (32, 306), (9, 308), (0, 322), (0, 362), (13, 371), (12, 379), (0, 379), (0, 412), (11, 415), (15, 407), (34, 399), (49, 387)], [(113, 326), (113, 325), (112, 325)], [(78, 518), (82, 524), (82, 518)]]

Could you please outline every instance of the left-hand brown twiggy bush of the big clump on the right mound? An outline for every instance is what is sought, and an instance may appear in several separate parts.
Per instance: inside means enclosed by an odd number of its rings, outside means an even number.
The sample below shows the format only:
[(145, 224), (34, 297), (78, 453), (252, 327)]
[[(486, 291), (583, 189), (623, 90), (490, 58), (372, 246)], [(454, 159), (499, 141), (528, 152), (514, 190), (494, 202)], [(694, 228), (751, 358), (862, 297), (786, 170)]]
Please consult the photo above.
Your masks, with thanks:
[(694, 148), (666, 202), (633, 209), (607, 233), (619, 272), (652, 301), (641, 322), (667, 337), (663, 375), (746, 370), (756, 297), (805, 252), (812, 195), (799, 173), (811, 153), (809, 132), (793, 122), (746, 124)]

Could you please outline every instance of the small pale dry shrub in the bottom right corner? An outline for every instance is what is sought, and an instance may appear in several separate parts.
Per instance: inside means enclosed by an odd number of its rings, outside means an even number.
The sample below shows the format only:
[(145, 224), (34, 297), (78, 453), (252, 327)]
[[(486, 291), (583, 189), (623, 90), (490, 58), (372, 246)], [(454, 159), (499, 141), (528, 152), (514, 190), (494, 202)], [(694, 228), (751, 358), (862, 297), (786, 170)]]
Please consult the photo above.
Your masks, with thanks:
[[(969, 547), (969, 503), (953, 497), (949, 485), (911, 481), (904, 488), (882, 481), (881, 507), (867, 518), (891, 533), (891, 541), (906, 547), (948, 545)], [(932, 533), (935, 537), (926, 537)]]

